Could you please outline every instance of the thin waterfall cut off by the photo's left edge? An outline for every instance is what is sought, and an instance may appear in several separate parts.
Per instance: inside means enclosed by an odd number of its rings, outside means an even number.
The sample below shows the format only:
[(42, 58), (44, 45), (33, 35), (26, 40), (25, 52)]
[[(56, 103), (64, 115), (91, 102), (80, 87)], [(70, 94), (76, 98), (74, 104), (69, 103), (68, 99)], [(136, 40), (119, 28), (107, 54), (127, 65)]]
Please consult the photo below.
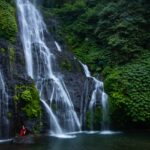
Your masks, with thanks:
[(0, 138), (9, 136), (8, 102), (6, 84), (0, 71)]

